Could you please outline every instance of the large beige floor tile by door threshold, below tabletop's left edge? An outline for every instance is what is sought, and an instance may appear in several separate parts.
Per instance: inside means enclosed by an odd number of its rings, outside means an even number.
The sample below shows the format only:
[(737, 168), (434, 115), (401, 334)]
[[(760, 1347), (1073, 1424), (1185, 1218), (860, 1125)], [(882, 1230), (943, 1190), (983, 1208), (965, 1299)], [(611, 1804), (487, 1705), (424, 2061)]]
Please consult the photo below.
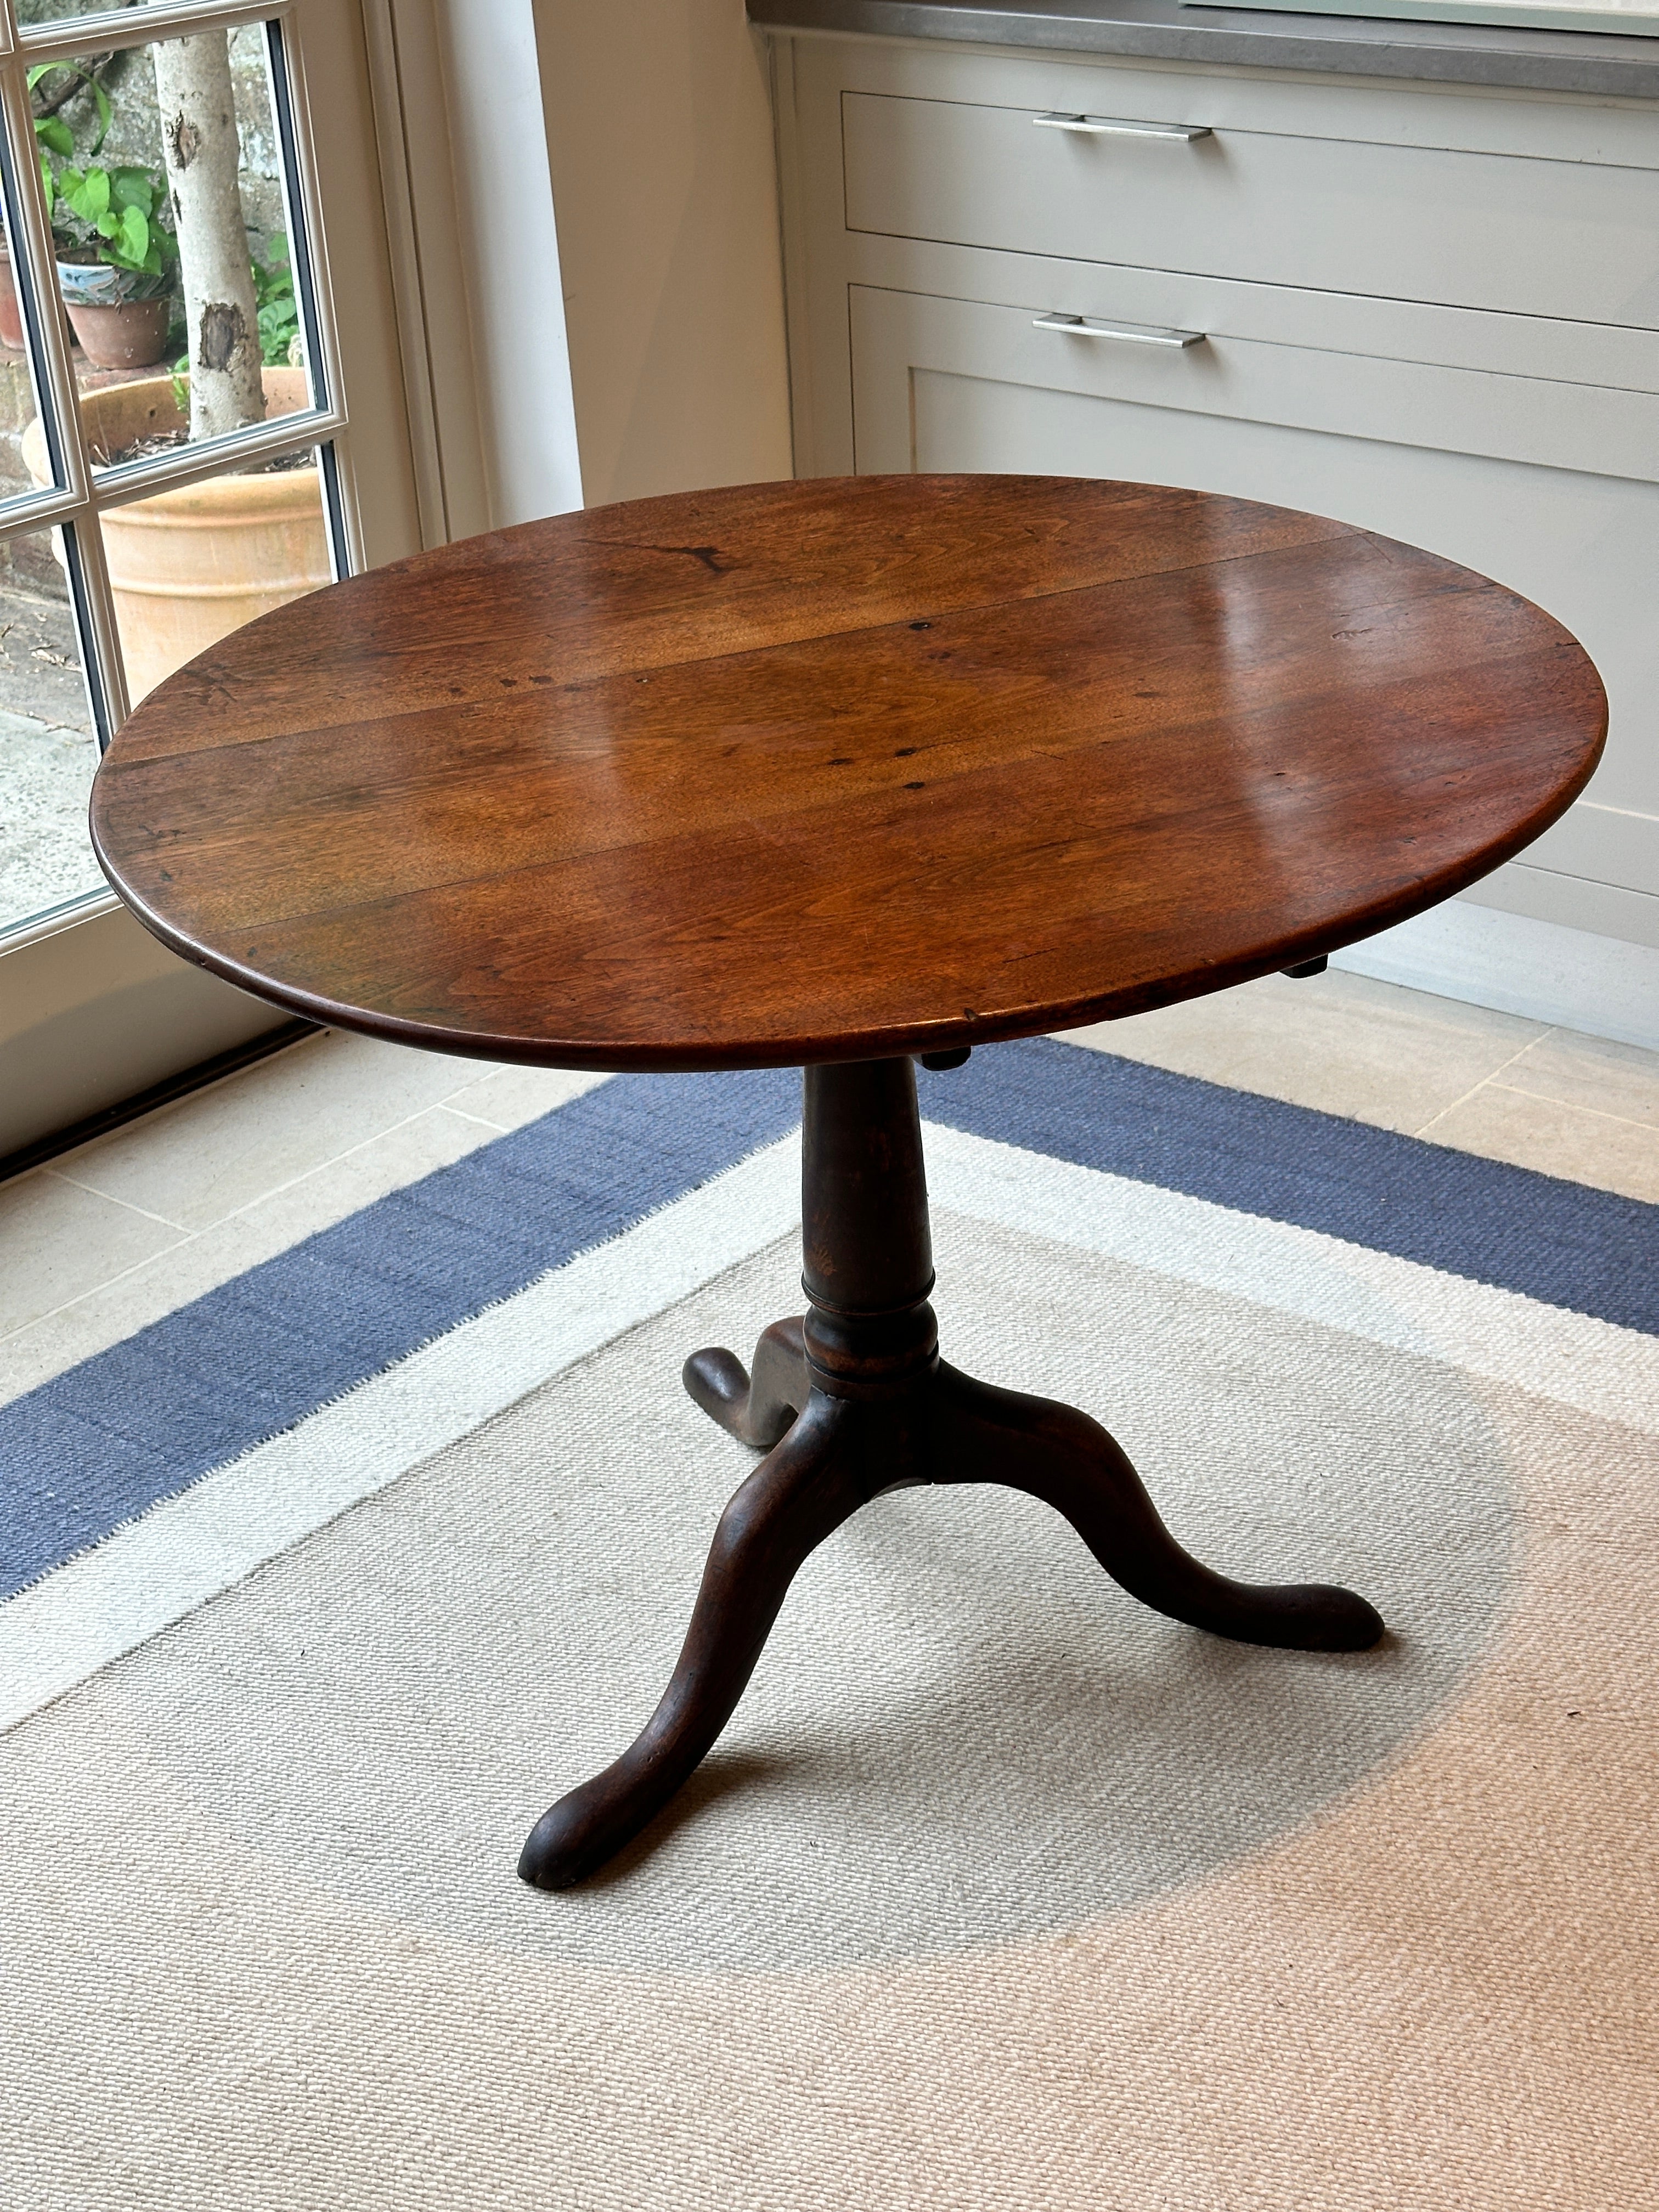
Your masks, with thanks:
[(476, 1079), (449, 1053), (325, 1033), (58, 1161), (86, 1190), (204, 1230)]

